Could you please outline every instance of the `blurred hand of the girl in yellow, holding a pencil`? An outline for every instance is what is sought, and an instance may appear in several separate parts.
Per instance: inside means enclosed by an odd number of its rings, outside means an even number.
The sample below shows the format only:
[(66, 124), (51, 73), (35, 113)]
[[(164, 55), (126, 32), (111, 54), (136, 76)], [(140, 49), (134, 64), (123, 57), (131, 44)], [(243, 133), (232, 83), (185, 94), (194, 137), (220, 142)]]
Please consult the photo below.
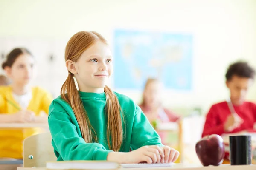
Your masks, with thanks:
[(32, 111), (19, 111), (15, 113), (14, 115), (15, 122), (34, 122), (35, 121), (35, 113)]

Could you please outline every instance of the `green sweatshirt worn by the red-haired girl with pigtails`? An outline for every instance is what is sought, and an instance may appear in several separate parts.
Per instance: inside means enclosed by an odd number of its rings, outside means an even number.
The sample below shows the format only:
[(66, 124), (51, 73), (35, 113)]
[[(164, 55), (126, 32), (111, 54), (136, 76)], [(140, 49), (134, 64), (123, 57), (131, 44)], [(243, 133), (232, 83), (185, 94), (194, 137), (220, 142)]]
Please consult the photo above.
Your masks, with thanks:
[[(52, 146), (58, 161), (61, 160), (106, 160), (111, 152), (107, 142), (107, 116), (105, 93), (80, 92), (90, 124), (97, 135), (97, 143), (86, 143), (81, 136), (76, 116), (60, 96), (49, 107), (49, 129)], [(125, 134), (120, 152), (129, 152), (145, 145), (161, 145), (161, 139), (148, 119), (130, 98), (114, 93), (124, 114)], [(125, 123), (125, 124), (124, 124)]]

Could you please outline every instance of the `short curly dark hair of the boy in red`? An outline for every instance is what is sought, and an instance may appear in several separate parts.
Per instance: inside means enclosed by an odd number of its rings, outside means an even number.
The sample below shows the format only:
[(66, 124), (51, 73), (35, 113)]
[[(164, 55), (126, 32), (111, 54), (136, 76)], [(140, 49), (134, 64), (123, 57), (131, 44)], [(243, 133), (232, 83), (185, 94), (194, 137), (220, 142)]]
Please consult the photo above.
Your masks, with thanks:
[(255, 70), (247, 62), (234, 62), (227, 69), (227, 73), (225, 75), (226, 80), (229, 81), (234, 75), (254, 79)]

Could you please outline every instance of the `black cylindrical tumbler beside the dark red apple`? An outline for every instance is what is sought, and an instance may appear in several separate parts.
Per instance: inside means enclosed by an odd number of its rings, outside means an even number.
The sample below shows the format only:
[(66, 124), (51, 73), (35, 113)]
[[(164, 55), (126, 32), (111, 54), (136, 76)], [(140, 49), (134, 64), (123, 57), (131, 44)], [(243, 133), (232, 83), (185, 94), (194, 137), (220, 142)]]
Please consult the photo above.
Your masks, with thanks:
[(230, 164), (248, 165), (252, 163), (251, 136), (230, 136)]

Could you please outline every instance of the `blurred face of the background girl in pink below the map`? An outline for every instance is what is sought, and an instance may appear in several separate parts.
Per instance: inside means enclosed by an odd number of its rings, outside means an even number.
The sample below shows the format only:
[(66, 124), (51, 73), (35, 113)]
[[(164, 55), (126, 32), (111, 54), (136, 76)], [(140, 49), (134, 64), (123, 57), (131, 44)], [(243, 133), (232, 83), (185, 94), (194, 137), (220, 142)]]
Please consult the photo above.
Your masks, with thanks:
[(149, 83), (144, 91), (145, 104), (148, 106), (160, 105), (162, 95), (162, 85), (160, 82), (154, 81)]

